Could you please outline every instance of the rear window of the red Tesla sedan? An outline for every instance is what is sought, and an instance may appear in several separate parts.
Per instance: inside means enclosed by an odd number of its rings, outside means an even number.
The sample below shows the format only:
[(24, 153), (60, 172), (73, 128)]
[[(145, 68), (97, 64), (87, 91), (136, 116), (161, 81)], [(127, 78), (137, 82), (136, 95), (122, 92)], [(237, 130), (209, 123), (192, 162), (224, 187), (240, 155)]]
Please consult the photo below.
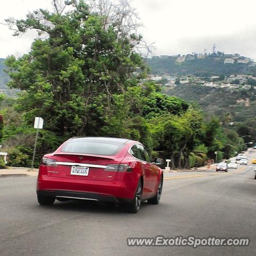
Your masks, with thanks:
[(91, 154), (91, 155), (116, 155), (124, 145), (99, 142), (99, 141), (68, 141), (61, 149), (62, 152)]

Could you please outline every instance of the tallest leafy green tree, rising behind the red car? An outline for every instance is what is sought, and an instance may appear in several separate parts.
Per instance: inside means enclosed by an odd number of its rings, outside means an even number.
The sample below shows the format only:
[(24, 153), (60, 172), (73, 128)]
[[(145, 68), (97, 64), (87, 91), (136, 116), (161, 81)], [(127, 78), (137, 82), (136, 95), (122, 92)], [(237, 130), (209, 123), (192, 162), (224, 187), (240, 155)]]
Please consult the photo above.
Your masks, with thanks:
[(21, 58), (7, 58), (8, 85), (23, 90), (18, 110), (28, 124), (41, 116), (61, 136), (97, 134), (113, 95), (138, 84), (133, 71), (146, 70), (135, 52), (141, 36), (125, 33), (121, 21), (106, 23), (83, 1), (66, 3), (67, 12), (40, 9), (15, 22), (16, 35), (36, 29), (45, 39)]

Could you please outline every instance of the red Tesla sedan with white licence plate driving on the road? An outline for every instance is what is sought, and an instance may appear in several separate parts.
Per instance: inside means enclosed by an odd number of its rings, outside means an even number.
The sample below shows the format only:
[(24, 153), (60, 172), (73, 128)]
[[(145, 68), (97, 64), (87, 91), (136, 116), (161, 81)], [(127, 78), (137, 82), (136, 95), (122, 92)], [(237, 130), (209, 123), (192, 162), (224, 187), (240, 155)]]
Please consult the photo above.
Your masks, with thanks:
[(51, 205), (55, 199), (94, 200), (124, 204), (136, 213), (142, 201), (158, 204), (162, 194), (163, 172), (152, 163), (138, 141), (118, 138), (71, 138), (54, 153), (42, 158), (37, 199)]

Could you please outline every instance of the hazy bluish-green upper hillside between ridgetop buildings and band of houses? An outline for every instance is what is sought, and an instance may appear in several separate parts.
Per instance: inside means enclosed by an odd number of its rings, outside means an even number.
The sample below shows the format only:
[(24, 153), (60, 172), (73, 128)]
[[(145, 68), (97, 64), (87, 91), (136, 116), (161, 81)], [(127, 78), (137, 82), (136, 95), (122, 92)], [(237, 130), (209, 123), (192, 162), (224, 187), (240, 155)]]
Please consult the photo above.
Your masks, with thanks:
[[(202, 55), (201, 55), (202, 56)], [(168, 56), (165, 58), (153, 57), (147, 59), (146, 63), (151, 69), (152, 74), (169, 74), (174, 76), (229, 76), (231, 74), (247, 74), (256, 75), (256, 67), (252, 62), (247, 64), (238, 63), (237, 60), (234, 64), (225, 64), (226, 58), (230, 58), (227, 54), (210, 54), (205, 55), (204, 59), (198, 59), (196, 56), (187, 55), (185, 62), (176, 62), (177, 56)], [(237, 57), (243, 58), (245, 57)]]

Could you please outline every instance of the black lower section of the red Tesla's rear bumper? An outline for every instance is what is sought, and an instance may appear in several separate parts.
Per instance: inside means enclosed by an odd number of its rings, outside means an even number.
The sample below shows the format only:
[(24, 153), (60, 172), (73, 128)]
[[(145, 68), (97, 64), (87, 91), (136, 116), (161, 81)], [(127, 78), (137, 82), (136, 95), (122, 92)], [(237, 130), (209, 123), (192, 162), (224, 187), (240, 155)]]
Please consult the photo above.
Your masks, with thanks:
[(131, 199), (118, 198), (111, 195), (85, 193), (85, 192), (68, 191), (68, 190), (37, 190), (36, 193), (39, 196), (54, 197), (56, 199), (92, 200), (92, 201), (118, 203), (118, 204), (132, 202)]

